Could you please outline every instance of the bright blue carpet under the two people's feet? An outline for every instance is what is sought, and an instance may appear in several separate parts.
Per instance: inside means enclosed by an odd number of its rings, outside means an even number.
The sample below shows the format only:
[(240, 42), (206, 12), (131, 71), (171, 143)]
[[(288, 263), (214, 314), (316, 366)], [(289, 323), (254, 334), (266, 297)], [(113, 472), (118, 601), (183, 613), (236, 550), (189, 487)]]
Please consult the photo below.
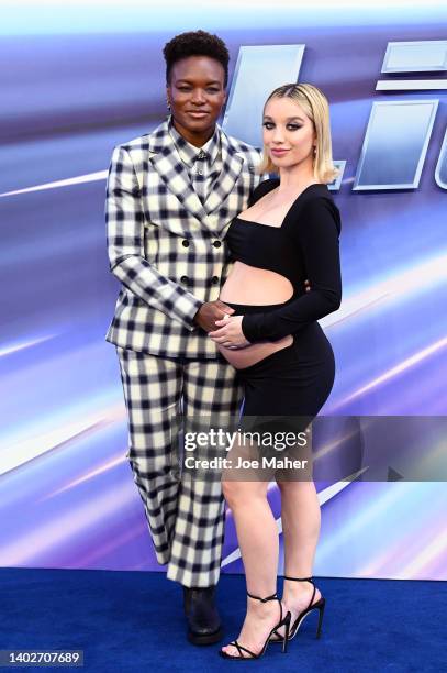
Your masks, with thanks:
[[(163, 573), (2, 569), (0, 578), (1, 650), (82, 649), (85, 665), (78, 670), (96, 673), (248, 665), (220, 659), (217, 646), (187, 642), (180, 586)], [(314, 613), (286, 655), (271, 646), (252, 668), (297, 673), (446, 671), (447, 583), (319, 578), (319, 587), (327, 600), (321, 640), (314, 638)], [(238, 632), (244, 592), (243, 576), (222, 577), (219, 604), (225, 641)]]

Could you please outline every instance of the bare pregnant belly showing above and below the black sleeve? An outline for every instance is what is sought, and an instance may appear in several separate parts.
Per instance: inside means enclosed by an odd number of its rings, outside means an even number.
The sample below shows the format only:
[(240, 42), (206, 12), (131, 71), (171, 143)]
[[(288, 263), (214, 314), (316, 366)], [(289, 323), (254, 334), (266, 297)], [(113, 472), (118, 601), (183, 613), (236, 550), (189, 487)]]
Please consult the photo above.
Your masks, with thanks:
[[(249, 266), (243, 262), (235, 262), (219, 298), (231, 304), (270, 306), (283, 304), (292, 295), (293, 286), (284, 276), (269, 269)], [(253, 343), (244, 349), (233, 350), (221, 345), (217, 347), (231, 365), (236, 369), (243, 369), (292, 343), (293, 338), (289, 334), (279, 341)]]

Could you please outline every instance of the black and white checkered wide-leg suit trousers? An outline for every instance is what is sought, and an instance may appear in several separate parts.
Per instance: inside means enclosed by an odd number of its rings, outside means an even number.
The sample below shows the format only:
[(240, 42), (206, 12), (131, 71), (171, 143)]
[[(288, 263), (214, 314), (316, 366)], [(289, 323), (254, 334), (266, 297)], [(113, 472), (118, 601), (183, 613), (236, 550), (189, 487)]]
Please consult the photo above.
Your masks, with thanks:
[(222, 360), (157, 357), (116, 347), (128, 415), (127, 457), (157, 561), (188, 587), (217, 583), (224, 536), (221, 481), (180, 474), (176, 418), (236, 416), (243, 391)]

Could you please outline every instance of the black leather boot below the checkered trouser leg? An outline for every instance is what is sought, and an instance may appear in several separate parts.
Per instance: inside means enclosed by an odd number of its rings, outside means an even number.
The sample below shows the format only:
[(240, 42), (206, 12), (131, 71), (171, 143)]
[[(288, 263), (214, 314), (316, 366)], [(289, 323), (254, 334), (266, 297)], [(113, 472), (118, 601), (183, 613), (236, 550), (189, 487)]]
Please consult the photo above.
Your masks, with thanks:
[(205, 588), (183, 586), (188, 640), (192, 644), (213, 644), (222, 639), (222, 625), (214, 603), (214, 586)]

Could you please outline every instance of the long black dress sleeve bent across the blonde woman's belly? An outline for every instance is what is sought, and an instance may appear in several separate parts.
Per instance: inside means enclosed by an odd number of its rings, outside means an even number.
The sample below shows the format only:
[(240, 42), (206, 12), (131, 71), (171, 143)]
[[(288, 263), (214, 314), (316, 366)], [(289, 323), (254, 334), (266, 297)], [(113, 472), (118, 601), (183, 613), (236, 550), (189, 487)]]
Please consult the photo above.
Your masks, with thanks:
[(293, 222), (293, 240), (304, 262), (311, 290), (278, 309), (244, 316), (242, 330), (250, 342), (277, 341), (337, 310), (342, 300), (338, 238), (339, 212), (332, 198), (305, 201)]

